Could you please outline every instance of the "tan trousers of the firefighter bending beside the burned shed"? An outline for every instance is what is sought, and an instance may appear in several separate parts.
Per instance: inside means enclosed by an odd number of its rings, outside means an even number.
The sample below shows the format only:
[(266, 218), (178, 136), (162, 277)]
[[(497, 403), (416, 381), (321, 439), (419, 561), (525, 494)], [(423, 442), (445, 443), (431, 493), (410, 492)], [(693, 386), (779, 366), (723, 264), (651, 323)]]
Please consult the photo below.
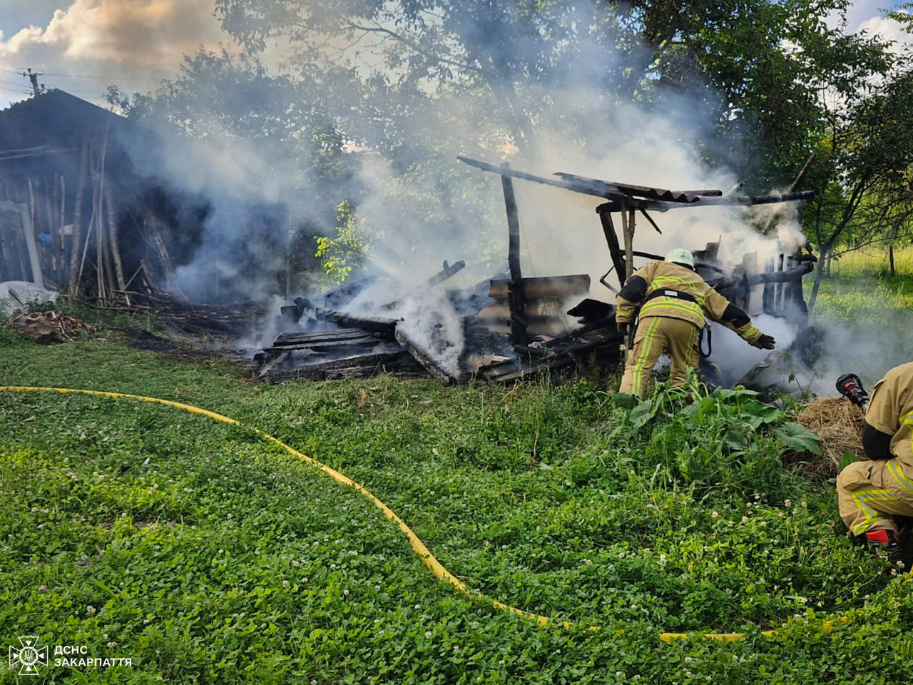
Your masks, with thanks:
[(698, 366), (698, 326), (691, 321), (668, 316), (645, 316), (637, 324), (634, 347), (628, 350), (624, 364), (621, 393), (632, 393), (643, 399), (646, 381), (663, 352), (669, 353), (673, 385), (682, 385), (688, 368)]

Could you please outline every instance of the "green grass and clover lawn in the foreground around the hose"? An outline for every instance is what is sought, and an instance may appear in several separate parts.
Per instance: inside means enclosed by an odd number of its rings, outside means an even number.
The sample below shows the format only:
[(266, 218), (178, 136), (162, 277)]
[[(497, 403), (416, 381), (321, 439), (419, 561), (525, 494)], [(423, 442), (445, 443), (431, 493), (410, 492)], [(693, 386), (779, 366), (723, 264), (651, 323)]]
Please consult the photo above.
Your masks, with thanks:
[[(0, 393), (2, 635), (133, 663), (38, 681), (908, 676), (911, 585), (846, 541), (832, 483), (782, 468), (787, 417), (759, 419), (750, 395), (657, 395), (638, 418), (584, 379), (267, 386), (109, 332), (39, 346), (2, 329), (0, 385), (152, 395), (262, 428), (362, 482), (473, 590), (574, 622), (540, 628), (436, 582), (370, 501), (245, 429)], [(732, 630), (748, 637), (658, 638)]]

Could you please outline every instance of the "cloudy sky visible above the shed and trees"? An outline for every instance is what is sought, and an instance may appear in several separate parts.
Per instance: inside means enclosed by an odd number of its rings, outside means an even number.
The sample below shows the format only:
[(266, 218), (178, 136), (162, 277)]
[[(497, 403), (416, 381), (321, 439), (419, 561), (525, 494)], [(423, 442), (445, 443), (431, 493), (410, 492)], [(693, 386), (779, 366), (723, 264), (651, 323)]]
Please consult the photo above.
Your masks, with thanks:
[[(909, 40), (880, 16), (888, 4), (860, 0), (847, 27)], [(47, 88), (99, 104), (109, 85), (155, 90), (175, 76), (183, 55), (232, 45), (213, 8), (213, 0), (0, 0), (0, 109), (28, 96), (25, 68), (43, 72)]]

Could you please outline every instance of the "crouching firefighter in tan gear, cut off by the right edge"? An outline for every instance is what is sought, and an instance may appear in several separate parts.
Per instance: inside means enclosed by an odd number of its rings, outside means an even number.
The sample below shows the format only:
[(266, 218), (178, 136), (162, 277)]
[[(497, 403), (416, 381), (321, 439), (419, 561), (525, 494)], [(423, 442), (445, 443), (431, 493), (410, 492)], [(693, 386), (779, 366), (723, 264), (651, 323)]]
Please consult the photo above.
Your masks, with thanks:
[(867, 459), (837, 476), (840, 518), (856, 542), (909, 570), (892, 515), (913, 516), (913, 362), (896, 366), (876, 384), (862, 445)]

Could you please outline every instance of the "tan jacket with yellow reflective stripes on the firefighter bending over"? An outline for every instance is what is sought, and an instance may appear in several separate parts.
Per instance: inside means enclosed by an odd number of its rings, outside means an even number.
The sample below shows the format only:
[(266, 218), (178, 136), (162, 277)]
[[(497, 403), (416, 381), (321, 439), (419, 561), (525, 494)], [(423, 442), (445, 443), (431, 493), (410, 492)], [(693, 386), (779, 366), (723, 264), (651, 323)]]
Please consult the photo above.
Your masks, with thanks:
[(618, 293), (617, 323), (632, 323), (639, 316), (666, 316), (690, 321), (703, 328), (707, 319), (718, 321), (750, 343), (761, 339), (744, 311), (708, 286), (698, 273), (674, 262), (656, 261), (637, 269)]

